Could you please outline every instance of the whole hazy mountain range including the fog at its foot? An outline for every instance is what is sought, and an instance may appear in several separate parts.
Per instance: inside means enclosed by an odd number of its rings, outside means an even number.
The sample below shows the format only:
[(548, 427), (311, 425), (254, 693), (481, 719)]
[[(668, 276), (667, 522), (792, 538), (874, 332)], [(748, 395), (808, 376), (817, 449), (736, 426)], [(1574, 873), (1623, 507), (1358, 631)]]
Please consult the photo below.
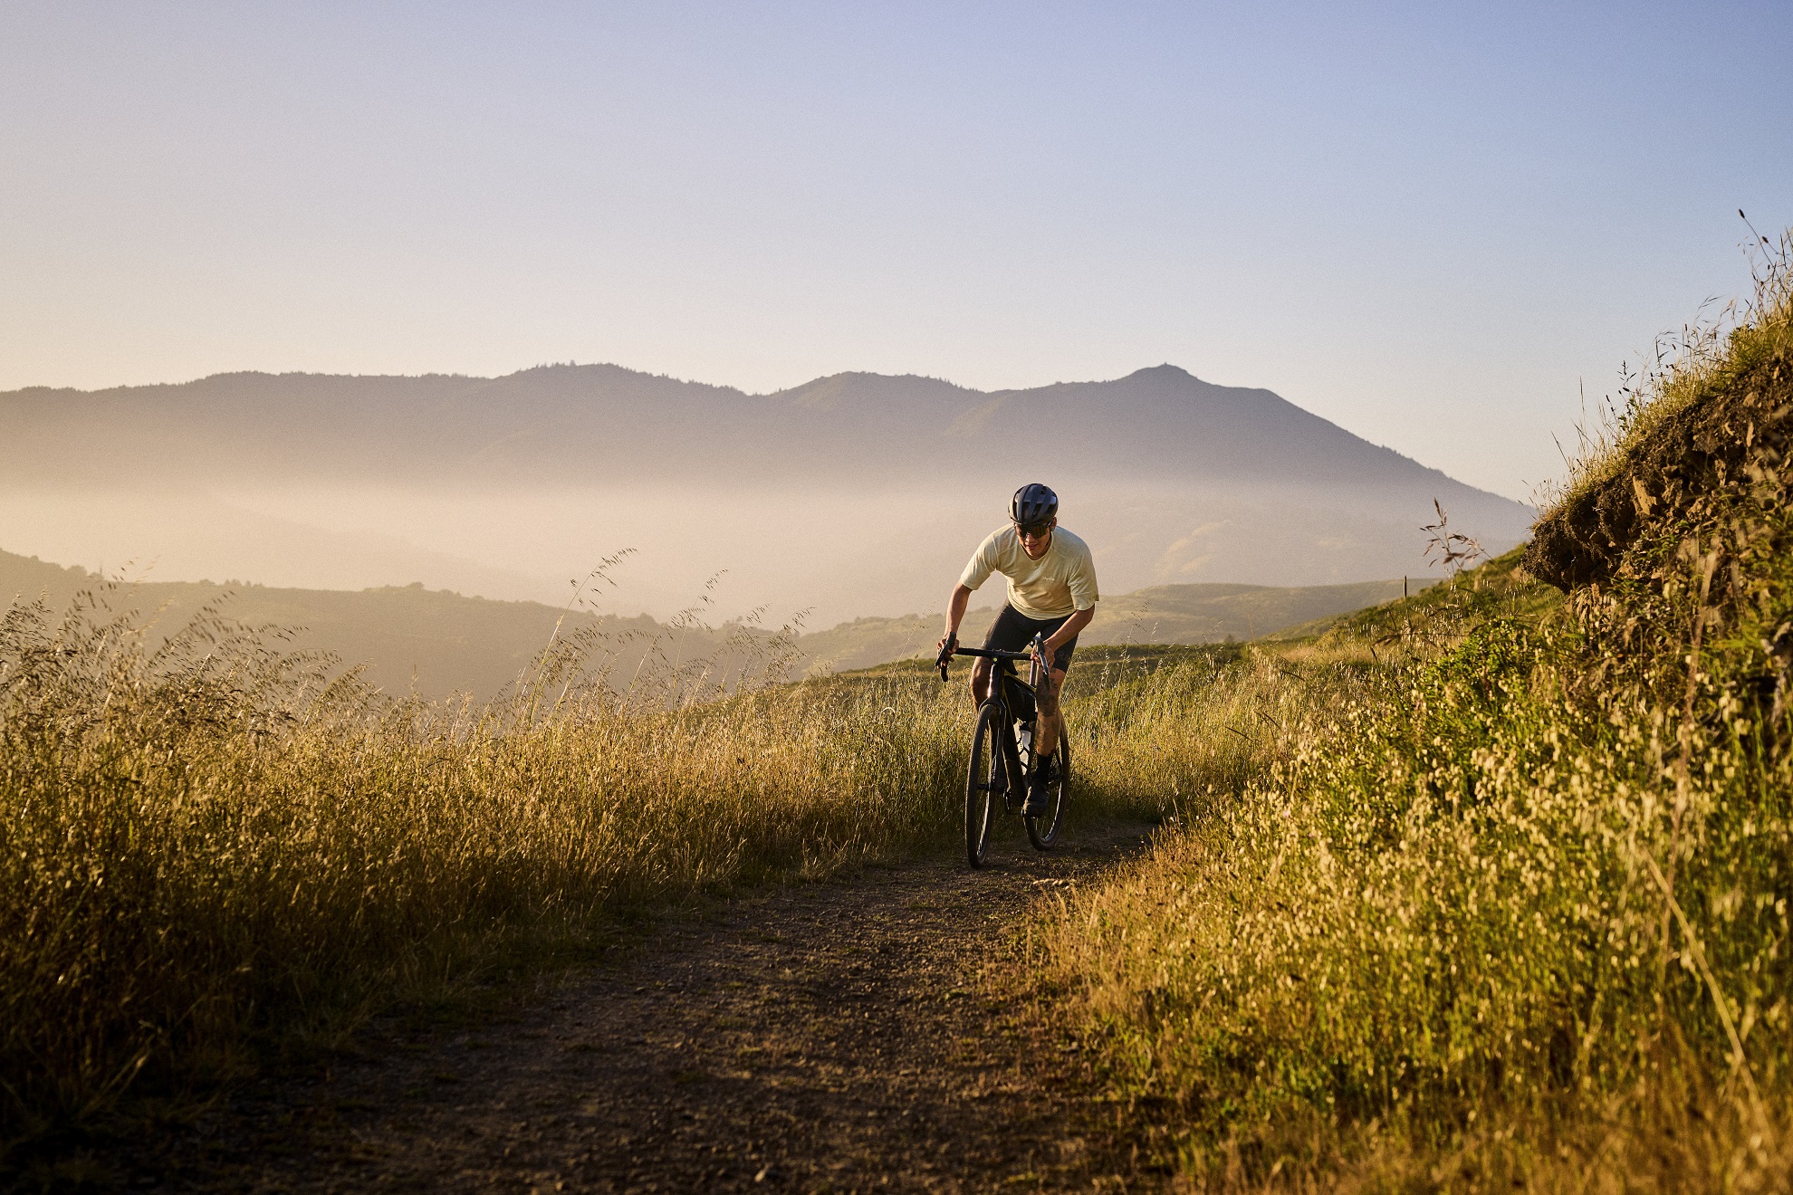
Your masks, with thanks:
[(619, 365), (233, 373), (13, 391), (0, 423), (11, 552), (154, 580), (565, 602), (635, 548), (599, 609), (807, 611), (812, 629), (936, 609), (1029, 480), (1058, 489), (1110, 595), (1418, 577), (1434, 498), (1490, 552), (1533, 518), (1176, 365), (1020, 391), (843, 373), (773, 394)]

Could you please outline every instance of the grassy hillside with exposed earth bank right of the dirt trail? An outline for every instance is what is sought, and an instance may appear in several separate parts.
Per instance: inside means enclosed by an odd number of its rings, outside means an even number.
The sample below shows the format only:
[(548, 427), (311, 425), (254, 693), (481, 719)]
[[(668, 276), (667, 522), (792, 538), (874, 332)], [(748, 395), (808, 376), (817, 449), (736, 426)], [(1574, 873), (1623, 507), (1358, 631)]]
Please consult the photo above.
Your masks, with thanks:
[(1786, 258), (1614, 432), (1524, 568), (1104, 695), (1178, 828), (1031, 982), (1198, 1190), (1788, 1190)]

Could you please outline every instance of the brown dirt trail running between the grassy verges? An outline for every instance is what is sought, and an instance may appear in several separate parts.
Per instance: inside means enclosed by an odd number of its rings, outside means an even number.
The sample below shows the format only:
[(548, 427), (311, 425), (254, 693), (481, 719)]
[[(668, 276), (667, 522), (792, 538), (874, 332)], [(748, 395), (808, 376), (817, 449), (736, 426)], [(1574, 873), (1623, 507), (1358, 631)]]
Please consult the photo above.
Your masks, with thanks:
[(475, 1032), (201, 1123), (138, 1190), (1149, 1190), (1063, 1043), (983, 982), (1031, 899), (1133, 853), (1072, 826), (672, 919)]

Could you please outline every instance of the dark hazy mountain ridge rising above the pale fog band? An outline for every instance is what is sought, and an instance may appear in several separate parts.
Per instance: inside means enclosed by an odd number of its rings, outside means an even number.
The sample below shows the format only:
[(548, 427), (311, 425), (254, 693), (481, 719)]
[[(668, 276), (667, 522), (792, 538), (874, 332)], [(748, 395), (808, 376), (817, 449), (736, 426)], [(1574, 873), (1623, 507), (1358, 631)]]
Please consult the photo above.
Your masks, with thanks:
[[(972, 391), (914, 374), (841, 373), (773, 394), (620, 365), (450, 374), (213, 374), (176, 385), (0, 392), (14, 478), (95, 475), (568, 482), (762, 475), (809, 478), (963, 471), (966, 457), (1058, 441), (1065, 477), (1422, 484), (1495, 498), (1370, 444), (1264, 389), (1201, 382), (1176, 365), (1113, 382)], [(79, 457), (70, 459), (70, 448)], [(1506, 500), (1495, 498), (1506, 503)], [(1517, 507), (1519, 503), (1506, 503)]]

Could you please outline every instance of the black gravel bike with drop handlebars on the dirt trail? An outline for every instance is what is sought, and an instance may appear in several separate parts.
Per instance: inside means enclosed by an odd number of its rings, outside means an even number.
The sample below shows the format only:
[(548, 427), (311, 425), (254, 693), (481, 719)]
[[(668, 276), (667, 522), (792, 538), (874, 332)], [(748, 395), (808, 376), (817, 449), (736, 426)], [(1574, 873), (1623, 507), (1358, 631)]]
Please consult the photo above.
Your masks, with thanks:
[[(983, 647), (947, 643), (934, 666), (947, 679), (947, 663), (954, 656), (983, 656), (995, 661), (990, 668), (990, 690), (977, 706), (977, 729), (972, 731), (972, 765), (965, 774), (965, 856), (972, 867), (984, 865), (990, 846), (992, 812), (997, 801), (1004, 813), (1020, 813), (1027, 799), (1027, 779), (1044, 767), (1033, 751), (1035, 711), (1038, 695), (1049, 683), (1045, 665), (1045, 634), (1033, 636), (1026, 652), (999, 652)], [(1015, 661), (1026, 659), (1027, 683), (1015, 674)], [(1022, 815), (1027, 840), (1036, 851), (1047, 851), (1058, 840), (1065, 824), (1065, 806), (1070, 804), (1070, 742), (1060, 727), (1058, 778), (1047, 787), (1045, 812), (1038, 817)]]

